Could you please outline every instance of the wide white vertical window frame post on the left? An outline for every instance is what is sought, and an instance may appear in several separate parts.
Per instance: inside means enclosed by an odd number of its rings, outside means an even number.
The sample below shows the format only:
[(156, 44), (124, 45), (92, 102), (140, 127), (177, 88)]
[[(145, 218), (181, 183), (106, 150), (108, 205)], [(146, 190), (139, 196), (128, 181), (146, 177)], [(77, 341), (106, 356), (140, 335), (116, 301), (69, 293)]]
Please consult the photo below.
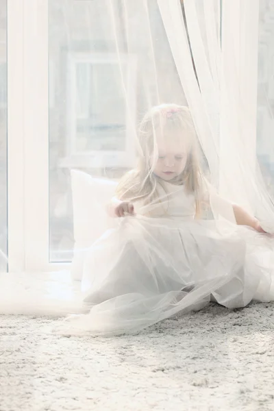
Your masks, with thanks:
[[(248, 3), (247, 0), (242, 2)], [(223, 2), (223, 15), (225, 5), (232, 7), (236, 3), (238, 0)], [(256, 8), (258, 0), (251, 3)], [(48, 29), (47, 0), (8, 0), (8, 250), (11, 272), (57, 271), (70, 266), (64, 262), (49, 262), (51, 85)], [(229, 48), (229, 45), (223, 47)], [(225, 58), (229, 60), (229, 52)], [(134, 112), (132, 106), (129, 110)], [(134, 121), (130, 119), (129, 123), (132, 132)]]

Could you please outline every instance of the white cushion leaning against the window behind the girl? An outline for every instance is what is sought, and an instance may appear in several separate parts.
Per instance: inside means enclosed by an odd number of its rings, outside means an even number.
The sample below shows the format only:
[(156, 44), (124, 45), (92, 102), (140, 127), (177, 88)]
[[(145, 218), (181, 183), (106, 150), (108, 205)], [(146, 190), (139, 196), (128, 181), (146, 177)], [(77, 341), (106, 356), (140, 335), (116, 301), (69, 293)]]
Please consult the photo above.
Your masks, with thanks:
[(73, 279), (81, 280), (86, 250), (113, 224), (107, 206), (114, 197), (117, 183), (93, 178), (83, 171), (71, 171), (73, 197), (74, 255)]

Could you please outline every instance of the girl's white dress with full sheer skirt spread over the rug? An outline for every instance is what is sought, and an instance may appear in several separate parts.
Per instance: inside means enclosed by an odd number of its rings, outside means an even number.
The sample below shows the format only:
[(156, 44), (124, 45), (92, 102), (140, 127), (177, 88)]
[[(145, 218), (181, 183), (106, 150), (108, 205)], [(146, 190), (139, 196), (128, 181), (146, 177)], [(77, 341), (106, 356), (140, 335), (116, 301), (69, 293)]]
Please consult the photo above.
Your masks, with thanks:
[(136, 216), (116, 219), (90, 248), (82, 279), (88, 314), (69, 318), (60, 332), (138, 332), (212, 298), (227, 308), (274, 299), (270, 236), (195, 220), (195, 197), (184, 186), (164, 183), (158, 192), (168, 201), (135, 203)]

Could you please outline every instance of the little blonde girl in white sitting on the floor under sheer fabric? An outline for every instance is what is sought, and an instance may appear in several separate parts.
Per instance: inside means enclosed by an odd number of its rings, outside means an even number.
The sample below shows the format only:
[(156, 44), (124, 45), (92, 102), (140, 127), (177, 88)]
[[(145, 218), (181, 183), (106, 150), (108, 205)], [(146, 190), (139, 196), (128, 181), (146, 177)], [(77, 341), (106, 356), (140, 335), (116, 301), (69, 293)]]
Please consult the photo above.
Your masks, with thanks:
[(210, 299), (227, 308), (273, 299), (273, 240), (203, 177), (188, 108), (153, 108), (139, 143), (138, 166), (109, 206), (119, 218), (86, 258), (90, 311), (72, 321), (74, 332), (136, 332)]

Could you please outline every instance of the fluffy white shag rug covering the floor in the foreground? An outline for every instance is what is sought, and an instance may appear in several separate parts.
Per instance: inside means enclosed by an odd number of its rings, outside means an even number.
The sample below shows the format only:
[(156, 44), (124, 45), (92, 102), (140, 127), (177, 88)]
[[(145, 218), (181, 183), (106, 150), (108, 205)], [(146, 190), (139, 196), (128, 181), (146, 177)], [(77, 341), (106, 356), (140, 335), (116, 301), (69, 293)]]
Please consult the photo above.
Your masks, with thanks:
[(213, 303), (138, 336), (44, 334), (0, 316), (1, 411), (274, 410), (274, 305)]

